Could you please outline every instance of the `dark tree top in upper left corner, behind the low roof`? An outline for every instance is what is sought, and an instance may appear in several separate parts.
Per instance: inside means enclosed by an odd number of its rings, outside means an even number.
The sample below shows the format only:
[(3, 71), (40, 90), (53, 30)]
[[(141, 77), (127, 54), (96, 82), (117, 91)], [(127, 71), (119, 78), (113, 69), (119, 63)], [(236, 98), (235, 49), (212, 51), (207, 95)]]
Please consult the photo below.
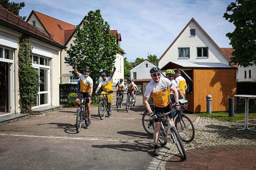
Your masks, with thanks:
[(20, 9), (25, 6), (25, 2), (9, 2), (9, 0), (0, 0), (0, 5), (4, 7), (5, 9), (8, 9), (10, 12), (14, 13), (14, 15), (17, 15), (21, 19), (25, 20), (27, 16), (22, 17), (19, 16)]

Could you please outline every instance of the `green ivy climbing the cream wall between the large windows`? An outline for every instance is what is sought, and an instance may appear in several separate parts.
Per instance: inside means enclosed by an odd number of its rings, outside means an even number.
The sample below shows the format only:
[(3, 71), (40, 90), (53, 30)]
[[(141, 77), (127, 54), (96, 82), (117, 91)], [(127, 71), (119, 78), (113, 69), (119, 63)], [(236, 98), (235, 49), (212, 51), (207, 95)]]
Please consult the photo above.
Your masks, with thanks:
[(32, 67), (32, 48), (29, 36), (20, 37), (18, 50), (19, 105), (21, 113), (32, 114), (31, 106), (39, 89), (39, 75)]

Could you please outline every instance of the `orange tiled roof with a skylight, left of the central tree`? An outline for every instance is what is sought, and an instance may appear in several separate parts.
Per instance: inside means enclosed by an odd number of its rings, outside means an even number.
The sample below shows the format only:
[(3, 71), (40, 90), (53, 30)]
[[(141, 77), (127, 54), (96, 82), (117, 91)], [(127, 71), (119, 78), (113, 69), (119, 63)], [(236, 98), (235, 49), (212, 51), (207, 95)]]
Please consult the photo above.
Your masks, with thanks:
[[(68, 40), (69, 37), (71, 36), (69, 34), (70, 36), (68, 37), (68, 39), (66, 39), (64, 31), (76, 29), (75, 25), (71, 25), (64, 21), (57, 20), (55, 18), (49, 17), (37, 11), (33, 11), (33, 12), (35, 13), (39, 21), (42, 23), (43, 27), (45, 27), (45, 30), (48, 33), (54, 35), (54, 40), (59, 42), (62, 45), (65, 45), (65, 42), (66, 42), (65, 40)], [(63, 30), (61, 30), (58, 25), (60, 25)]]

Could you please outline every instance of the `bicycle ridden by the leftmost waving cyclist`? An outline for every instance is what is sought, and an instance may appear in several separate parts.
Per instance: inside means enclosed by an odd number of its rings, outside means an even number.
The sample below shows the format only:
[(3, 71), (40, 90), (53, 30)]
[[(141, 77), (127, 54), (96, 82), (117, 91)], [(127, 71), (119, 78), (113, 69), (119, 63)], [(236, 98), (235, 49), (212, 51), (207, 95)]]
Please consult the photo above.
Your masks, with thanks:
[[(82, 122), (84, 120), (85, 126), (88, 126), (88, 114), (87, 114), (87, 107), (84, 103), (84, 100), (89, 99), (88, 97), (84, 97), (83, 95), (80, 95), (80, 97), (73, 97), (71, 98), (79, 99), (79, 106), (76, 112), (76, 132), (79, 133), (81, 130)], [(84, 104), (84, 108), (83, 105)]]

